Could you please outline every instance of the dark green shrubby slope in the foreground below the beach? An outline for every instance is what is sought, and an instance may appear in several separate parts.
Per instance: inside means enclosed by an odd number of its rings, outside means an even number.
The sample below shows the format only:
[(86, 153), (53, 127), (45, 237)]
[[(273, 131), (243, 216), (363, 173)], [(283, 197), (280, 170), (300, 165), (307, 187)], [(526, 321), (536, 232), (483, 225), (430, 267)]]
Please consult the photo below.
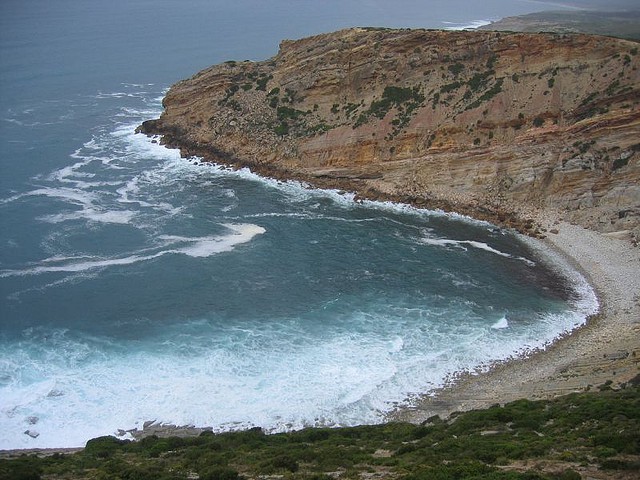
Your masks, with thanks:
[[(71, 455), (0, 460), (0, 479), (579, 479), (640, 475), (640, 386), (518, 400), (423, 425), (265, 435), (100, 437)], [(587, 475), (588, 474), (588, 475)]]

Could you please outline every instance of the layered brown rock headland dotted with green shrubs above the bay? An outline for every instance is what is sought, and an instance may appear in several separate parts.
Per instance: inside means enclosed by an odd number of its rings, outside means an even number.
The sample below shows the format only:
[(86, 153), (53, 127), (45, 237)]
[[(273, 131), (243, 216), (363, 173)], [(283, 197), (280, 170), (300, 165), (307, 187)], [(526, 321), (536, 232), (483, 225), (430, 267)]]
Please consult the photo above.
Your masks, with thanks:
[(349, 29), (203, 70), (140, 130), (268, 175), (507, 224), (552, 208), (638, 238), (638, 52), (589, 35)]

